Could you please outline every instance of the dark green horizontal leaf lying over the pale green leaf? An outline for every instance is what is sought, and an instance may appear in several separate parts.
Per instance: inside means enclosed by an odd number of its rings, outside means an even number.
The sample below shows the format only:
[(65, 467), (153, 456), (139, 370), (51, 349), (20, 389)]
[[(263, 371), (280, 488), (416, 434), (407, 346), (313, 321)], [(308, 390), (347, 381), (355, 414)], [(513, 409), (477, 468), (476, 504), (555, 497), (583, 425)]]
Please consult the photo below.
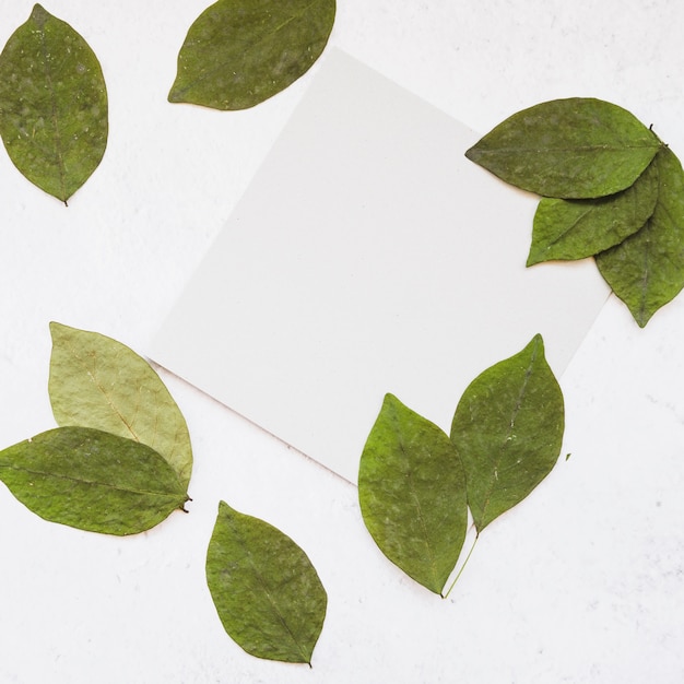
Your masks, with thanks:
[(46, 520), (135, 534), (188, 500), (153, 449), (87, 427), (59, 427), (0, 451), (0, 480)]

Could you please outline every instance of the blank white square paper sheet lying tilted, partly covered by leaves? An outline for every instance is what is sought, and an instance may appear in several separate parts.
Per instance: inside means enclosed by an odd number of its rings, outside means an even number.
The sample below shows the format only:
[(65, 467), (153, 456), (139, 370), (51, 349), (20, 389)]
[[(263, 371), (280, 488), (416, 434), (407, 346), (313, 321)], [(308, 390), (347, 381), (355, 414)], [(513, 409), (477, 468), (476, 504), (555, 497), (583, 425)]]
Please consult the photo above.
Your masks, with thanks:
[(386, 392), (448, 431), (536, 332), (559, 376), (609, 291), (524, 268), (536, 198), (479, 138), (329, 49), (150, 356), (351, 482)]

